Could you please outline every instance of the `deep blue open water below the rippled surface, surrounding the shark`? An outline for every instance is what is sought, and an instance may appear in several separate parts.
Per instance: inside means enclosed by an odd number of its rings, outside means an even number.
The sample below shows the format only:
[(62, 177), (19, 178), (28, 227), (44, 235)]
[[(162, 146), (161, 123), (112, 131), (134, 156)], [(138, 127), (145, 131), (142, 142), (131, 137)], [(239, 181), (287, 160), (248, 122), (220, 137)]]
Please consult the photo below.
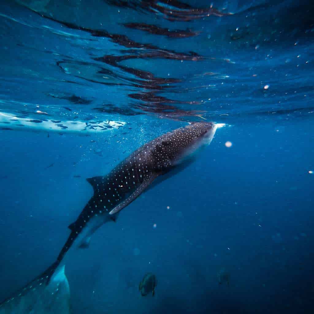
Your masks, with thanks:
[[(75, 312), (310, 313), (311, 131), (309, 121), (219, 129), (185, 171), (97, 231), (88, 251), (71, 253), (66, 272)], [(57, 255), (67, 225), (92, 195), (84, 177), (105, 173), (122, 157), (114, 144), (102, 145), (104, 138), (90, 143), (77, 136), (12, 134), (1, 134), (8, 175), (1, 179), (3, 297)], [(92, 145), (103, 146), (105, 156), (92, 153)], [(73, 178), (78, 174), (82, 178)], [(230, 272), (229, 287), (218, 284), (222, 267)], [(138, 293), (147, 271), (158, 278), (154, 298)]]

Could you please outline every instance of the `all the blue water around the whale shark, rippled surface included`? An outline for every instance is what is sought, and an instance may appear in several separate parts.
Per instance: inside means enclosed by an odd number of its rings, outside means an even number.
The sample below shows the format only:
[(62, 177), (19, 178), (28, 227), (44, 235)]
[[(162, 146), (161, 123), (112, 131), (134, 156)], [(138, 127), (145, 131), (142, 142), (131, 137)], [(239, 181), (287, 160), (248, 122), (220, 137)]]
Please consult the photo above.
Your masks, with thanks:
[(313, 312), (312, 4), (2, 1), (0, 35), (1, 300), (56, 259), (85, 178), (207, 119), (194, 163), (71, 252), (73, 313)]

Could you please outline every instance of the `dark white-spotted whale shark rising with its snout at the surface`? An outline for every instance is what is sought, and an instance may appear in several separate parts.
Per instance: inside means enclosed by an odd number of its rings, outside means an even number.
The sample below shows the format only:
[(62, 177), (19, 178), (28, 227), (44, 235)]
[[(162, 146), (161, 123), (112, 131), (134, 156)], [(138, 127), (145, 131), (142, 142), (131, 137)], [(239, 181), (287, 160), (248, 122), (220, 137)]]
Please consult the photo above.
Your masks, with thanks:
[(78, 218), (69, 225), (70, 235), (57, 260), (22, 288), (22, 292), (18, 291), (14, 297), (1, 303), (0, 311), (3, 304), (8, 306), (11, 300), (16, 302), (17, 298), (25, 297), (28, 291), (49, 285), (56, 273), (64, 270), (62, 260), (74, 242), (74, 247), (87, 248), (93, 233), (105, 223), (116, 221), (119, 212), (152, 187), (153, 182), (156, 183), (159, 178), (162, 181), (166, 174), (174, 175), (192, 162), (196, 152), (211, 143), (220, 126), (213, 122), (192, 122), (145, 143), (108, 174), (87, 178), (93, 187), (93, 196)]

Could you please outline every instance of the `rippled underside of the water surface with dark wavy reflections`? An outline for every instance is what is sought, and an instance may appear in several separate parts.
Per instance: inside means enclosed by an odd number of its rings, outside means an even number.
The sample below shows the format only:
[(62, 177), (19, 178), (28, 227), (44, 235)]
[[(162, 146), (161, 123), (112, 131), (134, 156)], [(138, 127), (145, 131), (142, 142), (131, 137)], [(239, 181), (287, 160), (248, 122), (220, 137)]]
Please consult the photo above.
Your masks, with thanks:
[(293, 1), (4, 2), (1, 110), (83, 121), (308, 116), (312, 12)]

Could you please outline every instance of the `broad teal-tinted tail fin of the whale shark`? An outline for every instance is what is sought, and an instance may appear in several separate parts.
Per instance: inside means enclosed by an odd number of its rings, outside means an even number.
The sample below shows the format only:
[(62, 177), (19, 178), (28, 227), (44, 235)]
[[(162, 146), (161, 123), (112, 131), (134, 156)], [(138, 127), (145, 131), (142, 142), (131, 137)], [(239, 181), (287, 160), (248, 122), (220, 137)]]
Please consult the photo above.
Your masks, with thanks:
[(56, 269), (56, 263), (52, 264), (41, 276), (0, 303), (0, 314), (33, 313), (70, 313), (70, 288), (64, 265)]

